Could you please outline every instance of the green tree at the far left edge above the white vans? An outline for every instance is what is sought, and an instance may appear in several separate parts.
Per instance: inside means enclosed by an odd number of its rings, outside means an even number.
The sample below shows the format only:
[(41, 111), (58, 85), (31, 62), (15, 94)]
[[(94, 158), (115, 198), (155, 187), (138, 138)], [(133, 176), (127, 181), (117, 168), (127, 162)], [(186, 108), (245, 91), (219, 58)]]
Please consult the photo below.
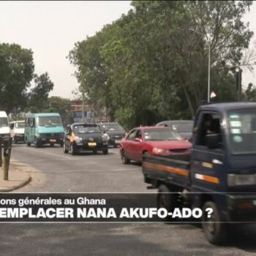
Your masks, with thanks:
[(17, 44), (0, 44), (0, 108), (18, 113), (27, 104), (26, 91), (33, 79), (31, 50)]

